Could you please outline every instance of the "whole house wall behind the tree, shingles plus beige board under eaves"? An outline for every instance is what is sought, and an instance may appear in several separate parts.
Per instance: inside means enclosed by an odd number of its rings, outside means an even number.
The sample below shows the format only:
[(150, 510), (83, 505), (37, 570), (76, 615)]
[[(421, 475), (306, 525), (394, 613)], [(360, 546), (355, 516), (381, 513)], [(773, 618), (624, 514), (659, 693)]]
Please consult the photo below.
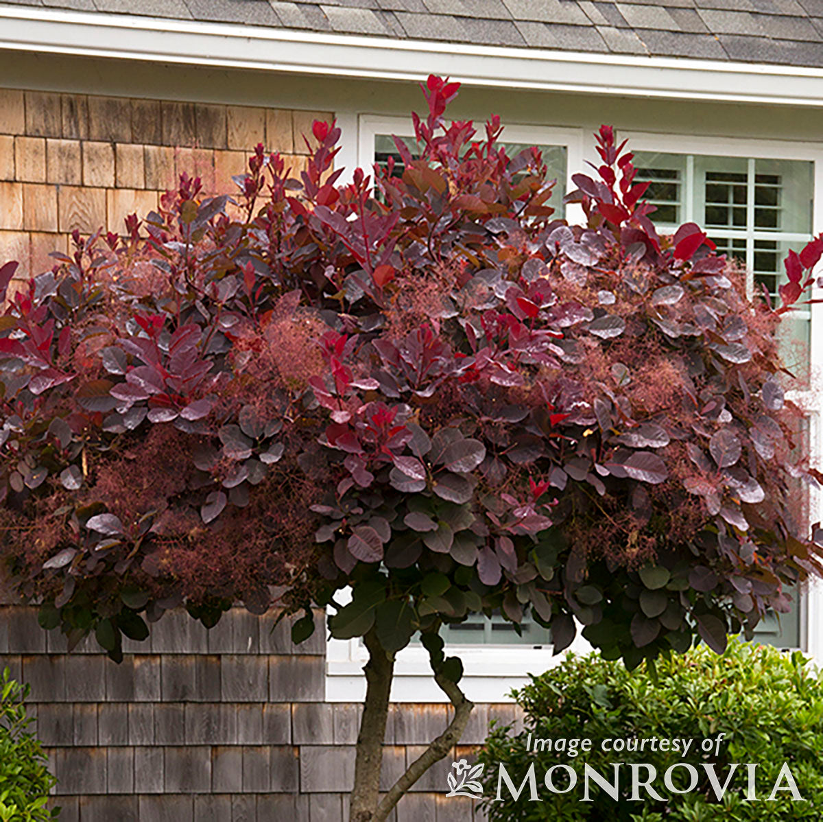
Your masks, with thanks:
[[(338, 161), (351, 167), (360, 114), (421, 107), (412, 83), (2, 52), (0, 86), (0, 263), (19, 259), (20, 276), (50, 268), (49, 251), (65, 252), (75, 228), (122, 231), (123, 217), (154, 208), (180, 171), (230, 190), (261, 141), (299, 167), (300, 134), (330, 111), (343, 128)], [(813, 142), (823, 133), (820, 110), (593, 94), (466, 88), (450, 110), (477, 119), (492, 112), (504, 123), (612, 123), (721, 145), (729, 137)], [(346, 820), (359, 706), (324, 702), (322, 629), (295, 648), (286, 624), (269, 633), (271, 619), (236, 609), (206, 631), (169, 614), (115, 666), (93, 640), (69, 655), (33, 609), (3, 606), (0, 666), (31, 685), (63, 822)], [(443, 704), (393, 705), (387, 781), (448, 717)], [(511, 704), (478, 706), (462, 744), (480, 744), (495, 717), (518, 721)], [(445, 799), (449, 764), (402, 800), (397, 822), (481, 818), (470, 803)]]

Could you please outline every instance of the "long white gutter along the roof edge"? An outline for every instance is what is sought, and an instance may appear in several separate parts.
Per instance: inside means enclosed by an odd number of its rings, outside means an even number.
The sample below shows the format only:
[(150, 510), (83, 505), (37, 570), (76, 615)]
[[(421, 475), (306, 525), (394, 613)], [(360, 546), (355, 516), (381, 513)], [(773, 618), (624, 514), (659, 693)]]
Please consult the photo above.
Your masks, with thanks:
[(823, 106), (823, 69), (328, 35), (0, 7), (0, 49), (381, 80)]

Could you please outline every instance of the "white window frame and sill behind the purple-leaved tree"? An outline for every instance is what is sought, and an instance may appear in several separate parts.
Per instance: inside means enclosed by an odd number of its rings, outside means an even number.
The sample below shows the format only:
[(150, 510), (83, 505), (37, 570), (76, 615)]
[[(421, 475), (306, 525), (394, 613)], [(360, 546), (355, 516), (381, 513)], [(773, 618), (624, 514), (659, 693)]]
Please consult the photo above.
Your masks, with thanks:
[[(412, 122), (405, 117), (376, 114), (348, 114), (345, 118), (346, 160), (351, 164), (356, 145), (356, 165), (371, 173), (374, 166), (374, 138), (378, 134), (397, 134), (413, 137)], [(584, 172), (584, 161), (599, 165), (599, 158), (584, 146), (591, 142), (590, 129), (556, 128), (551, 126), (509, 125), (503, 138), (506, 142), (532, 143), (535, 145), (561, 145), (566, 147), (566, 190), (576, 186), (571, 175)], [(703, 154), (710, 156), (746, 156), (780, 160), (806, 160), (814, 162), (814, 203), (812, 232), (823, 231), (823, 151), (812, 143), (783, 142), (774, 140), (737, 139), (705, 136), (683, 136), (667, 133), (620, 134), (629, 138), (629, 145), (637, 151), (666, 152), (674, 154)], [(570, 222), (582, 222), (582, 209), (577, 205), (566, 207)], [(686, 219), (689, 217), (684, 215)], [(820, 275), (820, 271), (816, 275)], [(823, 297), (823, 289), (815, 287), (813, 297)], [(823, 373), (823, 305), (811, 306), (811, 378)], [(810, 447), (816, 456), (816, 467), (823, 469), (823, 401), (813, 392), (793, 395), (807, 410), (810, 418)], [(812, 521), (823, 519), (823, 494), (812, 492), (810, 500)], [(349, 591), (338, 592), (337, 601), (345, 604)], [(333, 613), (330, 608), (329, 613)], [(823, 664), (823, 581), (808, 586), (800, 602), (800, 647)], [(591, 646), (577, 634), (570, 652), (586, 653)], [(563, 654), (555, 655), (551, 646), (528, 647), (523, 645), (453, 645), (447, 646), (463, 660), (462, 687), (467, 697), (476, 703), (511, 702), (509, 692), (528, 682), (528, 673), (540, 673), (556, 665)], [(365, 698), (363, 666), (367, 652), (359, 639), (338, 640), (329, 638), (326, 656), (326, 700), (328, 702), (361, 702)], [(431, 675), (428, 654), (419, 645), (406, 647), (398, 653), (394, 669), (391, 699), (393, 702), (442, 703), (444, 694)]]

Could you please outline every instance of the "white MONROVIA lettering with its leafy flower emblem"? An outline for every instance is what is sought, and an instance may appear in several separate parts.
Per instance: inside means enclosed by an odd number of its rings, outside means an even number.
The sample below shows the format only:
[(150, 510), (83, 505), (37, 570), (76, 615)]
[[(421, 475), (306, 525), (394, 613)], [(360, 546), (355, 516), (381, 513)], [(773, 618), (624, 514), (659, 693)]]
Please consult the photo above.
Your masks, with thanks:
[[(742, 786), (744, 790), (743, 799), (745, 801), (762, 801), (762, 796), (758, 796), (756, 770), (757, 763), (737, 763), (734, 762), (729, 765), (728, 773), (723, 782), (715, 770), (714, 763), (701, 763), (705, 778), (708, 779), (709, 787), (717, 797), (718, 802), (723, 801), (723, 796), (728, 792), (736, 775), (742, 777)], [(483, 772), (483, 765), (468, 764), (465, 759), (460, 759), (458, 762), (452, 764), (457, 776), (449, 773), (449, 793), (446, 796), (469, 796), (472, 799), (483, 798), (483, 787), (477, 778)], [(579, 801), (591, 802), (593, 787), (599, 788), (606, 792), (608, 796), (614, 801), (621, 799), (621, 768), (628, 768), (630, 773), (625, 774), (623, 785), (623, 796), (628, 801), (646, 801), (647, 796), (656, 801), (666, 801), (666, 797), (662, 796), (654, 782), (658, 780), (658, 771), (653, 764), (649, 763), (625, 763), (617, 762), (611, 764), (612, 773), (607, 777), (602, 773), (598, 773), (588, 763), (583, 764), (583, 777), (579, 778), (578, 772), (567, 764), (557, 764), (549, 768), (543, 775), (543, 784), (546, 790), (553, 794), (569, 793), (575, 787), (582, 790), (582, 796)], [(681, 773), (684, 774), (685, 779), (680, 782), (675, 782), (675, 774), (678, 768), (681, 768)], [(738, 768), (740, 770), (738, 771)], [(669, 766), (663, 773), (663, 787), (670, 794), (684, 794), (695, 791), (701, 781), (703, 774), (697, 766), (685, 762), (678, 762)], [(458, 782), (458, 778), (460, 781)], [(513, 779), (509, 774), (503, 763), (498, 765), (497, 774), (497, 794), (495, 801), (505, 801), (504, 792), (508, 792), (512, 800), (518, 801), (521, 796), (527, 801), (542, 802), (543, 800), (538, 796), (537, 790), (537, 773), (535, 771), (534, 763), (529, 765), (526, 775), (523, 777), (519, 786), (515, 784), (517, 780)], [(579, 784), (580, 783), (580, 784)], [(660, 786), (658, 786), (660, 787)], [(770, 786), (771, 787), (771, 786)], [(628, 796), (625, 795), (626, 789), (630, 789)], [(793, 801), (805, 802), (806, 800), (800, 795), (797, 789), (797, 782), (791, 770), (788, 767), (788, 762), (784, 762), (780, 768), (777, 779), (774, 781), (774, 786), (771, 787), (771, 792), (765, 801), (774, 802), (779, 798), (779, 792), (788, 791), (791, 793)]]

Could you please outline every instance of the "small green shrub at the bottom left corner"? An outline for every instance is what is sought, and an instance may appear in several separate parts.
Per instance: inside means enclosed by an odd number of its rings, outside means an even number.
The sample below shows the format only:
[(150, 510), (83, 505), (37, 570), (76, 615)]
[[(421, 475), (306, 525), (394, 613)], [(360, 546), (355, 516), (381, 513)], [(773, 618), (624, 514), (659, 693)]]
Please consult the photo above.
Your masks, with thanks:
[(0, 684), (0, 822), (51, 820), (59, 809), (45, 805), (57, 780), (46, 768), (40, 740), (26, 730), (29, 686), (9, 679), (8, 668)]

